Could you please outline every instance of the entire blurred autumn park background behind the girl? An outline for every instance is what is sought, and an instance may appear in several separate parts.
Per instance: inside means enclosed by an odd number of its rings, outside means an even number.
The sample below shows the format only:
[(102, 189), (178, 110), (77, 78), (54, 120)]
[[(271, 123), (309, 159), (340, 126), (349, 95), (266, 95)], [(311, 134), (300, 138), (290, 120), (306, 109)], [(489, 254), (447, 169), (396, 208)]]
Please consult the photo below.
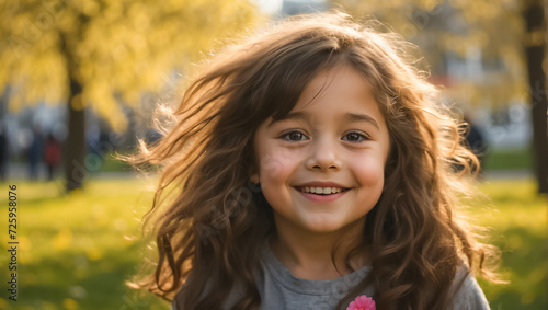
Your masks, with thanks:
[(19, 242), (18, 301), (2, 250), (0, 309), (170, 309), (125, 285), (155, 254), (140, 220), (156, 180), (113, 156), (161, 138), (155, 108), (176, 103), (210, 50), (330, 8), (378, 19), (419, 47), (419, 66), (470, 123), (467, 143), (482, 160), (469, 213), (490, 228), (510, 280), (480, 279), (491, 308), (547, 309), (541, 0), (0, 1), (0, 241), (12, 241), (16, 185)]

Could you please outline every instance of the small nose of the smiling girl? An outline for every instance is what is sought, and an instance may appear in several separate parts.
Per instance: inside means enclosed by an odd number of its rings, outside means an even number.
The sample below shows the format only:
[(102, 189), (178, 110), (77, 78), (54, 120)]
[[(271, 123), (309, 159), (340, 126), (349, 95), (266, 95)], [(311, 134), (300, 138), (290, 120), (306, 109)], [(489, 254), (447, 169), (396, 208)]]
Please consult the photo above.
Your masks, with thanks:
[(323, 137), (313, 141), (306, 167), (310, 171), (340, 171), (342, 162), (338, 153), (336, 143), (331, 141), (330, 137)]

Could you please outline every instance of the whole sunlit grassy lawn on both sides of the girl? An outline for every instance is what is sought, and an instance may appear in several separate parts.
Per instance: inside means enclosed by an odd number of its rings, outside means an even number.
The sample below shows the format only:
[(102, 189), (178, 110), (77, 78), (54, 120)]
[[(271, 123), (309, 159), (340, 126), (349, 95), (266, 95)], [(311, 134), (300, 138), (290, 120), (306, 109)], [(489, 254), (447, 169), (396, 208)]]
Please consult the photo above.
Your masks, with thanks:
[[(169, 309), (159, 298), (125, 286), (142, 261), (139, 220), (151, 202), (145, 180), (91, 180), (68, 196), (59, 184), (18, 185), (18, 301), (8, 300), (0, 255), (0, 309)], [(8, 244), (8, 184), (0, 198), (0, 242)], [(478, 223), (492, 228), (510, 285), (480, 280), (493, 310), (547, 309), (547, 200), (529, 180), (484, 181), (490, 198), (475, 199)]]

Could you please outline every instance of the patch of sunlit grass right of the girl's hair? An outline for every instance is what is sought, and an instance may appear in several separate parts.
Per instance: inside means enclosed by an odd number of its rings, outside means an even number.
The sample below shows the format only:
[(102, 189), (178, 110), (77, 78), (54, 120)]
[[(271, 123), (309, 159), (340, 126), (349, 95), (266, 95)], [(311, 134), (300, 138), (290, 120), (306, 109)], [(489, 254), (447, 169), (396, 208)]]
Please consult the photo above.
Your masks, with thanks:
[(480, 190), (491, 198), (472, 204), (477, 222), (490, 227), (501, 250), (501, 276), (509, 285), (480, 279), (493, 310), (548, 309), (547, 197), (533, 181), (487, 181)]

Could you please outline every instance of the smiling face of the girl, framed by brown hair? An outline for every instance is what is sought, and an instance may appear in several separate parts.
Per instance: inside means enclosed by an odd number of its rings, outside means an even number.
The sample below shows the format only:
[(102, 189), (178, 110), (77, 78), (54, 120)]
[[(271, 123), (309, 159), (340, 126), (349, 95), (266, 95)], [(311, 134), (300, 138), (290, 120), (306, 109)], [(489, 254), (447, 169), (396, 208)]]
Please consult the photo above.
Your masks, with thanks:
[(383, 192), (388, 129), (370, 84), (349, 66), (316, 77), (286, 117), (261, 124), (254, 145), (252, 179), (278, 229), (363, 227)]

